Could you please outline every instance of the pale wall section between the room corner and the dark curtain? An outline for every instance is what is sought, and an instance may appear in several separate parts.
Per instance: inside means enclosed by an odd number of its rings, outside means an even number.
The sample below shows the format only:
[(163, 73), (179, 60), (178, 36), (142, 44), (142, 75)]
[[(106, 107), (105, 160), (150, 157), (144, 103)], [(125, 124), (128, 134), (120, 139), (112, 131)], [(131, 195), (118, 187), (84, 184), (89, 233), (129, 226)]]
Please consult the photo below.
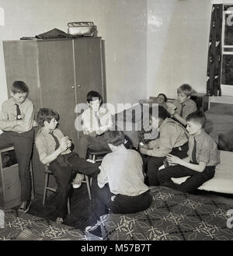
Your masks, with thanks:
[(148, 96), (189, 83), (206, 91), (207, 47), (212, 2), (148, 0)]

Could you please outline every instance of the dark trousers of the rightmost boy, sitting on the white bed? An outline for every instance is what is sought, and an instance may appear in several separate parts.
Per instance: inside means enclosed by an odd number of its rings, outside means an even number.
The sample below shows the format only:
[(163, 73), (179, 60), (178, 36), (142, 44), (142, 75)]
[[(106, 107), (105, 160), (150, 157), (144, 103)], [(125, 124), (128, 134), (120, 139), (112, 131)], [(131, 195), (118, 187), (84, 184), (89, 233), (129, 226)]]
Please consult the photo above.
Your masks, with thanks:
[[(191, 170), (180, 165), (167, 167), (158, 173), (158, 180), (162, 186), (183, 192), (190, 192), (199, 188), (204, 182), (214, 177), (215, 167), (206, 167), (202, 172)], [(182, 184), (175, 184), (171, 178), (190, 176)]]

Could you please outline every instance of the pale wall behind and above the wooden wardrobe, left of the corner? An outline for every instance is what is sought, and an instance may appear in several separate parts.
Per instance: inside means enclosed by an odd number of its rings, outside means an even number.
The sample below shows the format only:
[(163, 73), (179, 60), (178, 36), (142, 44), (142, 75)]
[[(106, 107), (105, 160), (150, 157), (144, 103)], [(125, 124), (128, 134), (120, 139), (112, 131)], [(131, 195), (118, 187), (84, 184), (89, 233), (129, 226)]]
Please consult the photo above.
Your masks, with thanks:
[[(93, 21), (106, 47), (107, 98), (113, 104), (146, 96), (147, 1), (144, 0), (2, 0), (5, 26), (0, 40), (18, 40), (53, 28), (67, 31), (71, 21)], [(0, 24), (1, 25), (1, 24)], [(0, 105), (7, 99), (0, 44)]]

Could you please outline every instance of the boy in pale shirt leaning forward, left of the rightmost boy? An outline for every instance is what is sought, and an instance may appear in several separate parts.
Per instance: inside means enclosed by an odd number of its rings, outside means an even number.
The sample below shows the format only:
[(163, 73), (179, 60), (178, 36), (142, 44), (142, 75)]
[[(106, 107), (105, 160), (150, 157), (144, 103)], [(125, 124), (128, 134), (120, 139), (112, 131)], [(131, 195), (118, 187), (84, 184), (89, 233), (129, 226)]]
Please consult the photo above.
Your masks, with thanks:
[[(151, 119), (152, 124), (155, 123), (155, 117), (151, 115)], [(147, 163), (146, 174), (149, 186), (159, 185), (158, 168), (164, 164), (165, 156), (169, 153), (180, 158), (187, 156), (188, 137), (185, 128), (169, 118), (169, 113), (162, 106), (158, 106), (158, 132), (158, 139), (140, 148), (140, 153), (146, 155), (144, 163)]]

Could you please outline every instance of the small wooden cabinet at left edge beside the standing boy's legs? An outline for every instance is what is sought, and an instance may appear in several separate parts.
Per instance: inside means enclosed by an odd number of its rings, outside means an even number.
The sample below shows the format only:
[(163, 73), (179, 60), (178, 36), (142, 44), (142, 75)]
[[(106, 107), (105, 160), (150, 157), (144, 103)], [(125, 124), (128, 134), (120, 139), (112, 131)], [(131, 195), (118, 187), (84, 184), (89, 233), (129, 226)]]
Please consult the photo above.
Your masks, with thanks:
[(20, 205), (21, 186), (14, 147), (0, 149), (0, 209)]

